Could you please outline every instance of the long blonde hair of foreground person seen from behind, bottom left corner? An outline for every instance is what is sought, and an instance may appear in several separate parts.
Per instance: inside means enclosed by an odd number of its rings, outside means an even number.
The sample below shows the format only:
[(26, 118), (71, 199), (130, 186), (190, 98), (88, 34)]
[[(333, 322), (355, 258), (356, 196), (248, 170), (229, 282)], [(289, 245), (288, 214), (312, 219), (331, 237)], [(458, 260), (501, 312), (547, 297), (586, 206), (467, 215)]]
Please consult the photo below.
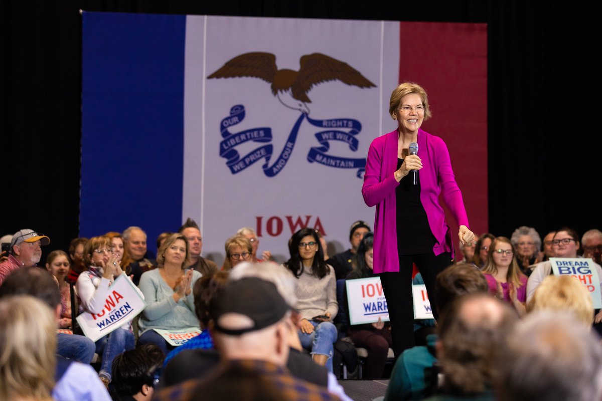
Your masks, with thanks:
[(29, 295), (0, 301), (0, 400), (51, 401), (57, 321)]

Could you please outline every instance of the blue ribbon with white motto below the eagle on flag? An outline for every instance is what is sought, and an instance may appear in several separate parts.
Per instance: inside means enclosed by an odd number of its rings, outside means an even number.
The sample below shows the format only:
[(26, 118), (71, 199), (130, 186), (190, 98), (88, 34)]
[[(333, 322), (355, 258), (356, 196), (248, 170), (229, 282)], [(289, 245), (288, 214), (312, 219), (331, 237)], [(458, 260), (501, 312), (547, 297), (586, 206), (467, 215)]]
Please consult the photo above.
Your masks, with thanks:
[[(315, 138), (320, 142), (320, 147), (312, 147), (309, 150), (307, 159), (310, 163), (317, 162), (319, 164), (335, 167), (335, 168), (357, 168), (357, 176), (362, 177), (365, 172), (366, 159), (350, 159), (340, 158), (337, 156), (327, 155), (330, 148), (329, 141), (341, 141), (349, 144), (349, 148), (353, 152), (358, 151), (358, 139), (355, 137), (361, 129), (362, 124), (358, 120), (351, 118), (335, 118), (330, 120), (313, 120), (305, 113), (301, 114), (295, 122), (293, 129), (288, 135), (287, 142), (284, 145), (284, 149), (278, 156), (275, 162), (270, 166), (270, 159), (272, 159), (273, 145), (272, 142), (272, 129), (269, 127), (258, 127), (247, 129), (237, 133), (231, 133), (228, 128), (241, 123), (244, 120), (244, 106), (235, 105), (230, 109), (230, 115), (222, 119), (220, 123), (220, 131), (224, 138), (220, 142), (220, 156), (226, 159), (226, 165), (230, 169), (232, 174), (240, 173), (247, 167), (255, 162), (265, 159), (265, 164), (262, 166), (264, 174), (267, 177), (274, 177), (280, 173), (282, 168), (287, 164), (295, 142), (297, 141), (297, 133), (299, 133), (299, 127), (303, 122), (304, 118), (307, 118), (308, 122), (315, 127), (328, 128), (327, 130), (315, 133)], [(345, 132), (341, 129), (349, 129)], [(246, 142), (268, 142), (267, 145), (256, 148), (246, 156), (241, 157), (235, 147)]]

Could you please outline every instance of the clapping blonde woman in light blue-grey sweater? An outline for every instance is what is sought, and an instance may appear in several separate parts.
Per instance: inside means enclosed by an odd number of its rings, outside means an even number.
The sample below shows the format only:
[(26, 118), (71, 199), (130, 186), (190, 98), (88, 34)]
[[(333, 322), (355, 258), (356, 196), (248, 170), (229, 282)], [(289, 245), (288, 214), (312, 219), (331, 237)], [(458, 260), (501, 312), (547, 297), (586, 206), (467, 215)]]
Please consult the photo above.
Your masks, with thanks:
[(182, 234), (172, 234), (158, 251), (158, 268), (145, 272), (140, 278), (140, 290), (146, 308), (140, 315), (138, 326), (141, 344), (155, 344), (164, 354), (173, 346), (156, 331), (199, 326), (194, 314), (192, 287), (200, 273), (187, 269), (190, 265), (188, 240)]

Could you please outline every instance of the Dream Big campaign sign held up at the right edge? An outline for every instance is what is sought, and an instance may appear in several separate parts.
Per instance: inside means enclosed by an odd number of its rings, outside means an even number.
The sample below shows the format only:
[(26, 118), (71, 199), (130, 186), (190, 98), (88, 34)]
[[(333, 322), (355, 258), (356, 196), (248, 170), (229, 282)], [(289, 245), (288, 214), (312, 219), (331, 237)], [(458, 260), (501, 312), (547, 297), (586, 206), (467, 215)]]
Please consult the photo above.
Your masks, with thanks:
[(571, 275), (585, 286), (592, 296), (594, 309), (602, 308), (600, 298), (600, 277), (594, 260), (583, 257), (551, 257), (550, 263), (555, 275)]

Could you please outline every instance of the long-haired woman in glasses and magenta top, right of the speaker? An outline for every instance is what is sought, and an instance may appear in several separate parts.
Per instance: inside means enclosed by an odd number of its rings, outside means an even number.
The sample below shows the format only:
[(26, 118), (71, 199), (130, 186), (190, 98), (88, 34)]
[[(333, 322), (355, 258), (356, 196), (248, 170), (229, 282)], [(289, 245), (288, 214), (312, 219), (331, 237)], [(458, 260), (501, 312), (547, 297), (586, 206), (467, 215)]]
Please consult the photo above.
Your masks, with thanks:
[(495, 238), (482, 271), (489, 284), (489, 292), (514, 306), (523, 316), (526, 313), (527, 276), (518, 267), (515, 254), (509, 239)]

